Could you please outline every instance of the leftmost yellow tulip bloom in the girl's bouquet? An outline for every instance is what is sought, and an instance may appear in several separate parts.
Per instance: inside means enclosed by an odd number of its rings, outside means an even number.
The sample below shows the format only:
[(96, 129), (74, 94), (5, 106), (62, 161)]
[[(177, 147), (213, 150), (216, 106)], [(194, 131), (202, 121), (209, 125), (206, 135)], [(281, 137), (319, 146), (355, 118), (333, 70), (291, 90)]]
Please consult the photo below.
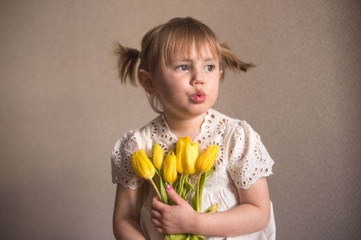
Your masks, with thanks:
[(155, 168), (143, 149), (133, 153), (131, 156), (131, 165), (138, 177), (146, 180), (153, 178)]

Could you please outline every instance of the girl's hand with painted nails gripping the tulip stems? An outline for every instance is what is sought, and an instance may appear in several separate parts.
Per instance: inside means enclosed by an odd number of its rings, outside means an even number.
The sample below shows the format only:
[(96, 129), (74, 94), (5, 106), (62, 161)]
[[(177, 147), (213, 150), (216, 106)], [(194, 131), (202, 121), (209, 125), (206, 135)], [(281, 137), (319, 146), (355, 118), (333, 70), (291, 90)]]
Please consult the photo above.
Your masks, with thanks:
[(166, 192), (173, 201), (172, 206), (153, 197), (151, 220), (155, 229), (166, 234), (192, 233), (197, 213), (182, 197), (179, 197), (171, 185), (166, 186)]

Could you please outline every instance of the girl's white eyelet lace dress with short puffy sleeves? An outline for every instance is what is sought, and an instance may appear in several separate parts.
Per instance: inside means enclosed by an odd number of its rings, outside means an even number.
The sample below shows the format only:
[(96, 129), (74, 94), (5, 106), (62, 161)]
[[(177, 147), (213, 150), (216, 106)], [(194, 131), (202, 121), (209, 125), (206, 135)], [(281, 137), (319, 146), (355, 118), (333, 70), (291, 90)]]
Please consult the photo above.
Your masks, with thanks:
[[(193, 141), (199, 143), (200, 151), (204, 151), (208, 145), (219, 147), (219, 154), (215, 160), (216, 171), (209, 176), (204, 187), (201, 204), (203, 211), (216, 203), (219, 204), (218, 211), (226, 211), (237, 206), (237, 188), (247, 189), (258, 178), (272, 174), (274, 161), (263, 146), (259, 134), (245, 121), (232, 119), (210, 109)], [(143, 148), (151, 156), (153, 143), (159, 143), (166, 154), (175, 147), (176, 142), (177, 136), (169, 130), (164, 115), (160, 115), (139, 130), (130, 130), (117, 141), (111, 154), (112, 181), (129, 189), (140, 187), (144, 180), (135, 175), (131, 167), (131, 154)], [(144, 189), (146, 192), (140, 212), (141, 228), (146, 239), (160, 240), (162, 237), (153, 227), (150, 216), (151, 199), (155, 193), (149, 186)], [(275, 239), (276, 226), (271, 202), (270, 206), (270, 222), (263, 230), (239, 237), (206, 239)]]

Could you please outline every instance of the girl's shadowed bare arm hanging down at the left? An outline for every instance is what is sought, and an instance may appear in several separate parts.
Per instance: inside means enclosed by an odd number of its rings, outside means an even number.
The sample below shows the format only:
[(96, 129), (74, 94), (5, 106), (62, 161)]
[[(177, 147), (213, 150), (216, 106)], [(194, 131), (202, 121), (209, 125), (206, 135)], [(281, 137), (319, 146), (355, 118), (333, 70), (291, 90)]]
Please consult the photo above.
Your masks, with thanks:
[(140, 206), (142, 201), (142, 187), (132, 190), (117, 185), (116, 202), (113, 212), (113, 233), (117, 240), (142, 239), (140, 229)]

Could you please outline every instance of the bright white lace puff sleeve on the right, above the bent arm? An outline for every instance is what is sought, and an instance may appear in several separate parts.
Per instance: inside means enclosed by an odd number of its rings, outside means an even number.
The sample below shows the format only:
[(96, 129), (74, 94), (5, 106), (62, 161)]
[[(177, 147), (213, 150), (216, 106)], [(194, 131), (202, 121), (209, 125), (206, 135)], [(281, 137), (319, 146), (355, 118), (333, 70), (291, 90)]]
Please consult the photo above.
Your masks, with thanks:
[(235, 128), (229, 148), (227, 170), (237, 188), (248, 189), (256, 180), (272, 174), (274, 161), (261, 137), (245, 121)]

